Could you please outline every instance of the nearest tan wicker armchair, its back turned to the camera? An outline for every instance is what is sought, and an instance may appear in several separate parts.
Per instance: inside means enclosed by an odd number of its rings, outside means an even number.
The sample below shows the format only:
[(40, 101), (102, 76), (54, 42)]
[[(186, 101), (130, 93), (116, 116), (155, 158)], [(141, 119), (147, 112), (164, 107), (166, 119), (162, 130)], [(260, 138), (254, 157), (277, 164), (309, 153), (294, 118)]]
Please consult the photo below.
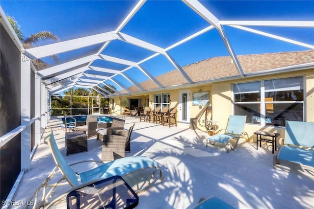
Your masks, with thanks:
[(112, 135), (104, 135), (102, 161), (113, 161), (125, 157), (125, 152), (131, 152), (131, 134), (135, 123), (129, 131), (113, 130)]

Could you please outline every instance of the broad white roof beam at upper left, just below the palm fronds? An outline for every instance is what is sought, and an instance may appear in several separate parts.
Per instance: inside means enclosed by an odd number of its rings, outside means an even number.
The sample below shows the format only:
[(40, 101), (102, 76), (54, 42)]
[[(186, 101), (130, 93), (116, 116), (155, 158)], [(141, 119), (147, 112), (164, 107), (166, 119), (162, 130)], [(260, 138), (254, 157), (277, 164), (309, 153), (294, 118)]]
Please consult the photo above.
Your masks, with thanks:
[(58, 42), (45, 46), (38, 46), (26, 49), (25, 55), (30, 59), (40, 59), (43, 57), (52, 56), (55, 54), (105, 43), (106, 41), (118, 39), (119, 36), (113, 32), (100, 33), (96, 35), (86, 36), (83, 38), (72, 39), (69, 41)]

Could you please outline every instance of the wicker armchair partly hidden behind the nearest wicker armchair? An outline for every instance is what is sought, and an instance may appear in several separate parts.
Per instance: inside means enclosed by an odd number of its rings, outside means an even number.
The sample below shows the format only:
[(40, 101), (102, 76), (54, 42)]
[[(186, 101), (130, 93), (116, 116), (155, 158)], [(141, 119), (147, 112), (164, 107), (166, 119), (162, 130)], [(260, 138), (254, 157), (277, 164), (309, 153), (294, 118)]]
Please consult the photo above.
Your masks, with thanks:
[(114, 117), (112, 123), (98, 123), (97, 124), (97, 138), (103, 139), (104, 135), (111, 135), (113, 130), (124, 130), (125, 120), (121, 118)]

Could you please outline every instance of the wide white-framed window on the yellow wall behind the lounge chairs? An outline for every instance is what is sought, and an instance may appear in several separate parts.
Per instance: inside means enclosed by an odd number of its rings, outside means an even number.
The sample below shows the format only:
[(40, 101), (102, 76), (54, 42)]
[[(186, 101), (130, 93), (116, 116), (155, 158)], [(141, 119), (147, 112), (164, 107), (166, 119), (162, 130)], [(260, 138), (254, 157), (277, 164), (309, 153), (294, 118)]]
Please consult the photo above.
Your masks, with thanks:
[(285, 126), (303, 121), (303, 76), (233, 85), (234, 113), (253, 124)]

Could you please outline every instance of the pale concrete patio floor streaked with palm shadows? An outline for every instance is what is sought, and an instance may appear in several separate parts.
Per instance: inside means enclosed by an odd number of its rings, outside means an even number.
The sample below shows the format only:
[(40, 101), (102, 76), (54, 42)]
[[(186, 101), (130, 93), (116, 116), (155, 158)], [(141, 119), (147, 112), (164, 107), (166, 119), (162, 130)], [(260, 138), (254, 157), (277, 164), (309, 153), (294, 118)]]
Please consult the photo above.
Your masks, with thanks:
[[(135, 123), (131, 153), (126, 156), (145, 155), (164, 166), (163, 181), (138, 194), (138, 209), (186, 209), (195, 206), (201, 197), (210, 196), (239, 209), (314, 208), (314, 169), (292, 163), (273, 169), (270, 144), (263, 142), (262, 148), (256, 150), (256, 143), (240, 140), (237, 149), (227, 154), (222, 144), (206, 147), (208, 135), (200, 130), (169, 128), (140, 122), (132, 116), (125, 119), (127, 130)], [(52, 118), (43, 138), (52, 129), (68, 163), (101, 159), (102, 141), (96, 141), (96, 137), (88, 139), (88, 152), (66, 156), (61, 123), (60, 118)], [(54, 166), (49, 146), (42, 141), (13, 200), (29, 200)], [(86, 169), (78, 169), (83, 168)]]

